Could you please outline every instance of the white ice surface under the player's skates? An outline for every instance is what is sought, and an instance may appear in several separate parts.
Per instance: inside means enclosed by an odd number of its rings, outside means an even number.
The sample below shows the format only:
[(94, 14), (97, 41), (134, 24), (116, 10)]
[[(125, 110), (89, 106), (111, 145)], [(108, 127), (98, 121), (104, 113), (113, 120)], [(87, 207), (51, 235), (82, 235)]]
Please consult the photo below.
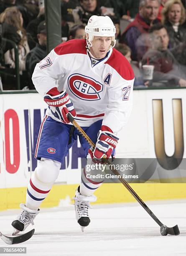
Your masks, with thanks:
[[(82, 233), (74, 206), (41, 209), (33, 237), (20, 245), (27, 256), (177, 256), (186, 255), (186, 200), (147, 202), (179, 236), (161, 236), (160, 227), (138, 203), (94, 205), (91, 223)], [(0, 231), (10, 235), (17, 210), (0, 212)], [(33, 226), (31, 226), (33, 228)], [(29, 227), (29, 229), (31, 229)], [(10, 247), (0, 239), (0, 247)], [(12, 254), (6, 254), (12, 255)]]

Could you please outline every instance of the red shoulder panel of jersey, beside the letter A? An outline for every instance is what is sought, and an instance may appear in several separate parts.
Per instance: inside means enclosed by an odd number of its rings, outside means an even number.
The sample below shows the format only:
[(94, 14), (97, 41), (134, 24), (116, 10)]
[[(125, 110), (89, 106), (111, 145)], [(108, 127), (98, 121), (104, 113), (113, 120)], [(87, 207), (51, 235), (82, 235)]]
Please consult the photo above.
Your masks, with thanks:
[(134, 72), (127, 59), (116, 49), (113, 49), (110, 58), (104, 63), (110, 65), (125, 80), (132, 80)]

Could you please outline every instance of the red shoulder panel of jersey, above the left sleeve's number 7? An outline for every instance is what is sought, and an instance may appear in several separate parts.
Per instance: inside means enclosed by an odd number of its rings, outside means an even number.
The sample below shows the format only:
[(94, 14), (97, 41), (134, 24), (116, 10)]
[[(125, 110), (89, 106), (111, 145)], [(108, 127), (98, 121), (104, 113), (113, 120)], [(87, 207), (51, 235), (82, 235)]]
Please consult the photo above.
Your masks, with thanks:
[(85, 39), (72, 39), (67, 42), (61, 43), (54, 51), (58, 55), (64, 54), (87, 54), (87, 49), (85, 48), (87, 42)]

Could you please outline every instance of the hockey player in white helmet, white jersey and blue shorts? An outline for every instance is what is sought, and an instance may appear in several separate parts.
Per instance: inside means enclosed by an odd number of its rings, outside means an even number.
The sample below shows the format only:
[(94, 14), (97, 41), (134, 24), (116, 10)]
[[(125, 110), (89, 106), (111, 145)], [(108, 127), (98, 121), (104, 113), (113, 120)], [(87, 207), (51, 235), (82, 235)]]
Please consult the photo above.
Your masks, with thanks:
[[(84, 156), (110, 158), (132, 109), (134, 74), (115, 46), (115, 26), (108, 16), (93, 15), (85, 27), (86, 40), (70, 40), (53, 49), (36, 65), (33, 84), (48, 104), (36, 145), (36, 167), (28, 184), (22, 212), (13, 221), (14, 234), (32, 223), (38, 207), (58, 177), (61, 163), (79, 136)], [(89, 144), (74, 129), (71, 113), (96, 144)], [(69, 136), (71, 139), (69, 139)], [(114, 141), (110, 143), (108, 141)], [(88, 152), (89, 151), (89, 152)], [(89, 203), (101, 185), (82, 177), (75, 193), (76, 219), (82, 230), (89, 225)]]

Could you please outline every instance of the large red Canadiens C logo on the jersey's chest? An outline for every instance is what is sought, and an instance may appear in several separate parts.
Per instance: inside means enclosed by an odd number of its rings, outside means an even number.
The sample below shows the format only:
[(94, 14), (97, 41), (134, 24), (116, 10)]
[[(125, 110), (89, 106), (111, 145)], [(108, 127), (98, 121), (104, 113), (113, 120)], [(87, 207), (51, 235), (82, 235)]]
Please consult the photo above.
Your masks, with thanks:
[(82, 74), (72, 74), (68, 85), (71, 92), (82, 100), (100, 100), (99, 93), (103, 90), (103, 84)]

